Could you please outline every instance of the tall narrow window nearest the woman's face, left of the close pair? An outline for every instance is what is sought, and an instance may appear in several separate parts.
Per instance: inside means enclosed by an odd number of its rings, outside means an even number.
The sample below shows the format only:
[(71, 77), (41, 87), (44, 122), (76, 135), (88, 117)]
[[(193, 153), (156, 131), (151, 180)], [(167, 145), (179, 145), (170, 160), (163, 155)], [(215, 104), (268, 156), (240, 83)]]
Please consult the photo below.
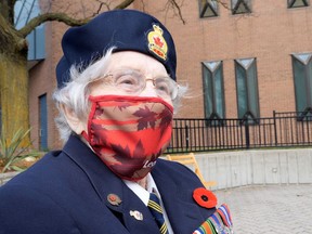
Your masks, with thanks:
[(203, 89), (205, 118), (219, 125), (224, 118), (223, 64), (218, 62), (203, 63)]

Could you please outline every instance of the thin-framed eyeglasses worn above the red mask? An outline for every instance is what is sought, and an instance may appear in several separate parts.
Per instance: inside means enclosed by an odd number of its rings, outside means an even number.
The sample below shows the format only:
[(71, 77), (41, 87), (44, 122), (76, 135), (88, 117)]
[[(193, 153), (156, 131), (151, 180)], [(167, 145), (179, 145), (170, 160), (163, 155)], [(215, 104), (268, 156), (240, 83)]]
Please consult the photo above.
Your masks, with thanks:
[[(113, 84), (129, 94), (141, 93), (148, 80), (153, 82), (157, 95), (162, 99), (174, 100), (179, 90), (178, 83), (170, 77), (145, 78), (142, 73), (133, 69), (115, 70), (106, 74), (104, 78), (105, 84)], [(108, 78), (110, 79), (108, 80)]]

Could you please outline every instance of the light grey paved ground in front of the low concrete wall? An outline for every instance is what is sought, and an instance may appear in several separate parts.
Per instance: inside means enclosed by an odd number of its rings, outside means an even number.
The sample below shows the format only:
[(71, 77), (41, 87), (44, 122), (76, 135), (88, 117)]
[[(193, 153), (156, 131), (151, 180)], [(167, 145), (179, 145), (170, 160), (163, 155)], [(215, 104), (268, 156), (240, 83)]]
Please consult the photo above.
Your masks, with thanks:
[(214, 191), (227, 204), (235, 234), (312, 234), (312, 184)]

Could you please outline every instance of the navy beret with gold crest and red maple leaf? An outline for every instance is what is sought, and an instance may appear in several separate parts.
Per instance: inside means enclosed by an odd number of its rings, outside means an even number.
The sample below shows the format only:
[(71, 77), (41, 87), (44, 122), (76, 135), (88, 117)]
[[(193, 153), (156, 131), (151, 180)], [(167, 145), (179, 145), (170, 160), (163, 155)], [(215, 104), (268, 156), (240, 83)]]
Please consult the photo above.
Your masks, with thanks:
[(64, 55), (56, 66), (57, 87), (69, 80), (69, 68), (83, 70), (106, 51), (136, 51), (158, 60), (176, 80), (176, 48), (170, 32), (155, 17), (135, 10), (104, 12), (88, 24), (69, 28), (63, 39)]

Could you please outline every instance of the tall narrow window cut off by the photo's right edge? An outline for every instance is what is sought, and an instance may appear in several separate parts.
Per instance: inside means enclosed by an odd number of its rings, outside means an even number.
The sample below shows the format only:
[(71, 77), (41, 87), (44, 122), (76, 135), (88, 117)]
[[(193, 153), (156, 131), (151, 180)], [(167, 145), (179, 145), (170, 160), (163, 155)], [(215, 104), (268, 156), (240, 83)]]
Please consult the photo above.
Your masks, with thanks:
[(312, 112), (312, 53), (294, 54), (292, 72), (296, 110), (306, 115)]

